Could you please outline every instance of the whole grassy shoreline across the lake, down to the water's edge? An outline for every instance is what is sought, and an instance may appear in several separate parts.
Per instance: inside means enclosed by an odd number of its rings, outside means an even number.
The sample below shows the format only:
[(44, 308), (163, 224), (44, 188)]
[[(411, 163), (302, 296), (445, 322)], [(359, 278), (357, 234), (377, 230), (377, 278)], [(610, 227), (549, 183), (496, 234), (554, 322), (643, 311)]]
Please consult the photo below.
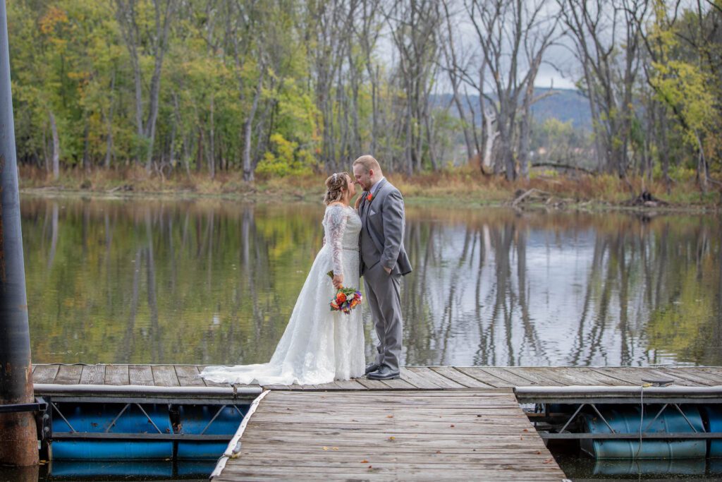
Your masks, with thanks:
[[(97, 199), (227, 199), (245, 202), (320, 202), (324, 175), (258, 179), (246, 183), (240, 173), (220, 173), (209, 179), (205, 173), (173, 178), (151, 175), (143, 169), (117, 171), (64, 171), (53, 181), (45, 171), (21, 168), (20, 191), (43, 197), (92, 197)], [(654, 210), (669, 212), (720, 212), (722, 191), (703, 194), (693, 181), (677, 181), (669, 193), (661, 181), (649, 183), (631, 178), (629, 183), (614, 176), (536, 175), (529, 182), (508, 182), (484, 176), (471, 169), (422, 173), (411, 178), (388, 176), (408, 205), (471, 205), (489, 207)], [(647, 189), (658, 202), (631, 203)], [(524, 202), (513, 206), (522, 193)]]

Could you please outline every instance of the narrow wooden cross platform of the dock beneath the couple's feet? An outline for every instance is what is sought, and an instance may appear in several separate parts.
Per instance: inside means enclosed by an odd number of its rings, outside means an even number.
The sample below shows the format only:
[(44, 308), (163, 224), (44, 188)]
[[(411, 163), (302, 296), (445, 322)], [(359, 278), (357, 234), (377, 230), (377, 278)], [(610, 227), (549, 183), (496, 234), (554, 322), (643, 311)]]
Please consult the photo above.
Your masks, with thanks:
[[(32, 378), (43, 384), (155, 385), (228, 387), (199, 377), (197, 365), (39, 364)], [(722, 385), (721, 367), (562, 367), (562, 366), (409, 366), (401, 379), (355, 379), (323, 385), (266, 385), (267, 390), (453, 390), (602, 385), (639, 386), (643, 379), (671, 379), (683, 387)], [(258, 387), (258, 385), (243, 385)]]

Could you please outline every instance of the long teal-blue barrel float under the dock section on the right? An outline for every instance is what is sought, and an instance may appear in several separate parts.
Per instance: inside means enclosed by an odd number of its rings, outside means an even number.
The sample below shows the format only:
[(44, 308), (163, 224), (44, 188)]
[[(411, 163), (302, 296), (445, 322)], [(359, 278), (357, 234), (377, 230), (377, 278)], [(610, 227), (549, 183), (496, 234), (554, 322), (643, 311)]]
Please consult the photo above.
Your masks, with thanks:
[[(640, 431), (639, 405), (607, 405), (598, 406), (600, 413), (615, 432), (620, 434), (638, 434)], [(647, 428), (661, 405), (646, 405), (644, 411), (643, 430), (651, 433), (693, 433), (692, 427), (684, 417), (671, 405), (665, 408), (652, 426)], [(684, 416), (692, 423), (697, 432), (704, 432), (700, 410), (692, 405), (682, 406)], [(583, 429), (589, 434), (612, 433), (606, 423), (594, 413), (582, 416)], [(581, 449), (596, 459), (684, 459), (704, 458), (707, 455), (707, 441), (704, 439), (688, 440), (639, 440), (633, 439), (583, 439)]]

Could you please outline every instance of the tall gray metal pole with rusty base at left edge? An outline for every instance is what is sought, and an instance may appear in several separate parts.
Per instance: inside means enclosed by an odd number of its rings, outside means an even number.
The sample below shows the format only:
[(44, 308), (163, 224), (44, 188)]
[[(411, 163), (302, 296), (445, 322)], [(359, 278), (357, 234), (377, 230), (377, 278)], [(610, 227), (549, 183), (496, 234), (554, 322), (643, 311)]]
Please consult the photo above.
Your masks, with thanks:
[[(30, 403), (32, 368), (20, 231), (5, 0), (0, 0), (0, 404)], [(0, 415), (0, 465), (38, 465), (32, 413)]]

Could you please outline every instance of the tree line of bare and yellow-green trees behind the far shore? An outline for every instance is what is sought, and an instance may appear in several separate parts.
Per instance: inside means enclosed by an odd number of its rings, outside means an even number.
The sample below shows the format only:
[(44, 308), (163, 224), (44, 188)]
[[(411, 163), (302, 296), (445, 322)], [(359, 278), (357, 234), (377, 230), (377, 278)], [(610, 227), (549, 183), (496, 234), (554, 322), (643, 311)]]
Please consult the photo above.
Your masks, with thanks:
[(362, 152), (413, 175), (463, 152), (529, 179), (560, 48), (594, 171), (706, 191), (722, 168), (720, 0), (8, 0), (8, 21), (19, 162), (55, 178), (253, 181)]

